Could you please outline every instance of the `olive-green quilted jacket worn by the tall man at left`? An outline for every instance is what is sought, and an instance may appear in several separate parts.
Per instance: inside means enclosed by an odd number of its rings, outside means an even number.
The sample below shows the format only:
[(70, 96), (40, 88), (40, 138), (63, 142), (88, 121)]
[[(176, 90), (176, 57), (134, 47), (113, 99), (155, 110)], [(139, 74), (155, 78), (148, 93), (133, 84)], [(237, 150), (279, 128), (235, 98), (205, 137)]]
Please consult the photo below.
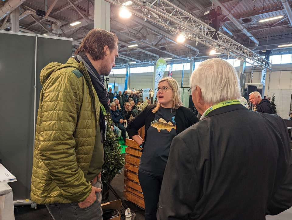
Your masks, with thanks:
[(99, 99), (84, 63), (73, 58), (48, 64), (40, 82), (31, 199), (37, 204), (82, 202), (91, 192), (85, 175), (99, 126)]

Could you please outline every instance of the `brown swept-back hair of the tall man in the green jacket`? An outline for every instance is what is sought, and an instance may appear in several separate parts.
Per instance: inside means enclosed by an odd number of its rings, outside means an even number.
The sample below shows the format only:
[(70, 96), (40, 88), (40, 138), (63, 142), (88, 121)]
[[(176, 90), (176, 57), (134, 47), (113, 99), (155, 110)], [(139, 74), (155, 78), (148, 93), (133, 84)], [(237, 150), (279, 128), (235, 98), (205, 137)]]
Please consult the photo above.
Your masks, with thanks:
[(94, 61), (102, 60), (106, 55), (104, 47), (107, 45), (112, 52), (118, 42), (115, 34), (100, 28), (92, 29), (82, 40), (75, 54), (88, 53)]

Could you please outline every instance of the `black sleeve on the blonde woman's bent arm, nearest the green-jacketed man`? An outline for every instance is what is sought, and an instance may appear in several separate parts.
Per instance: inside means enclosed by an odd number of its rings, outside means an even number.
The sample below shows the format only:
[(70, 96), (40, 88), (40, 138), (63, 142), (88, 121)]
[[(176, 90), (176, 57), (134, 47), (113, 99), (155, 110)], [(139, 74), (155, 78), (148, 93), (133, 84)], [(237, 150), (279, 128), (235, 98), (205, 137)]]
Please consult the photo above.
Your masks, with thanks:
[(145, 125), (147, 113), (149, 111), (151, 111), (151, 107), (147, 106), (143, 111), (137, 114), (136, 117), (130, 120), (127, 126), (129, 138), (132, 138), (134, 135), (138, 134), (138, 130)]

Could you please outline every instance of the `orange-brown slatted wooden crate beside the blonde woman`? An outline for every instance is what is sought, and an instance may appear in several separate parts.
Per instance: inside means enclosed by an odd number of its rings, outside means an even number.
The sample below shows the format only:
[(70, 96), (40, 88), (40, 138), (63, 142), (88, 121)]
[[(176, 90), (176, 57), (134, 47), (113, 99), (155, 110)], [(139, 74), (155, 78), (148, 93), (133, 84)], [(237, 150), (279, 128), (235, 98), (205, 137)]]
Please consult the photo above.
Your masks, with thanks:
[[(141, 134), (141, 131), (139, 134)], [(141, 137), (144, 139), (144, 134)], [(127, 154), (125, 155), (124, 197), (145, 208), (144, 197), (138, 179), (138, 168), (142, 153), (139, 150), (139, 145), (134, 140), (126, 139), (126, 145), (128, 147), (125, 149)]]

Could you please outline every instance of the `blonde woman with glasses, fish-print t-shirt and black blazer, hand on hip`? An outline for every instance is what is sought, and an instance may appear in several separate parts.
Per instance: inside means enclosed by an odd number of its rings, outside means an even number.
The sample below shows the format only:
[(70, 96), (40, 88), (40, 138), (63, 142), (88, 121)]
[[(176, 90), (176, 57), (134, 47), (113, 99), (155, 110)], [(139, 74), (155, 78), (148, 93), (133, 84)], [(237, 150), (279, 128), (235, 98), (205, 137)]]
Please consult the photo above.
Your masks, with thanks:
[[(145, 201), (145, 219), (156, 219), (163, 173), (172, 139), (199, 119), (180, 100), (179, 84), (171, 77), (158, 82), (158, 104), (148, 105), (127, 127), (129, 137), (143, 149), (138, 177)], [(138, 129), (145, 125), (143, 139)], [(141, 150), (142, 151), (142, 150)]]

